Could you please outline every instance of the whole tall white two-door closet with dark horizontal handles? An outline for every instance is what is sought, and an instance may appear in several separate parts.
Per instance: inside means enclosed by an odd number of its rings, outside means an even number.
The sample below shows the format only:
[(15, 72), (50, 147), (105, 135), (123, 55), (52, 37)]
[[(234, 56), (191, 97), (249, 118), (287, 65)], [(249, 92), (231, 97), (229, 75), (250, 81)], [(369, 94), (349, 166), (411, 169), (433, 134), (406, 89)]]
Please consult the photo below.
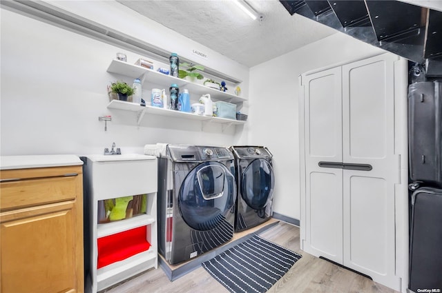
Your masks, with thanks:
[(302, 250), (394, 290), (407, 278), (406, 87), (393, 54), (301, 76)]

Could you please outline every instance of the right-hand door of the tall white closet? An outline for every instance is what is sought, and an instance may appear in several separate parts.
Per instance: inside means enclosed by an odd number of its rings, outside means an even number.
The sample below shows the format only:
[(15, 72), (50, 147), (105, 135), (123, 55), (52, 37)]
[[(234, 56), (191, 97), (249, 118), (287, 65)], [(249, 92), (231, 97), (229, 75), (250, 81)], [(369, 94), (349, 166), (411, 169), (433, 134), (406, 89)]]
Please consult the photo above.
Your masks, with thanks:
[(394, 154), (397, 59), (384, 54), (343, 66), (343, 163), (372, 166), (343, 170), (343, 265), (394, 288), (400, 284), (394, 276), (394, 185), (400, 171)]

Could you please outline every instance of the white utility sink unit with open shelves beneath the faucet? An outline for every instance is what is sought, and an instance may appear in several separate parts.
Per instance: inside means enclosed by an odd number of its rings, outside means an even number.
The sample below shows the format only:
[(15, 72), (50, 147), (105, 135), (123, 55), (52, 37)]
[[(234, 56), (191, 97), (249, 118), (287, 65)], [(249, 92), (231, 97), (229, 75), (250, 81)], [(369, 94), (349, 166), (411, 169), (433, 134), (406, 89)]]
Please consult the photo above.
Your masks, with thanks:
[[(157, 268), (157, 158), (141, 154), (96, 154), (86, 158), (85, 182), (90, 216), (90, 280), (86, 282), (90, 285), (86, 286), (86, 292), (96, 293), (135, 274)], [(99, 223), (100, 201), (142, 194), (146, 194), (146, 211), (119, 221)], [(144, 239), (144, 227), (145, 241), (150, 244), (148, 250), (98, 268), (99, 239), (135, 228), (143, 229)], [(121, 244), (119, 240), (117, 246)]]

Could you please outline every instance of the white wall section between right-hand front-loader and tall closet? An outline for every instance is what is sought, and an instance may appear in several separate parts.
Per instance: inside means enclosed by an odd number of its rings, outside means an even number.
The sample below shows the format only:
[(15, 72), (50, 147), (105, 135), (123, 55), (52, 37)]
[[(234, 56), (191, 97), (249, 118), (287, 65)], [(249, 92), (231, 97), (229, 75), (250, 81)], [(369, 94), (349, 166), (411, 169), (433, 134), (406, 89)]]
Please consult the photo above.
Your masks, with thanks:
[(274, 212), (300, 219), (298, 76), (381, 52), (339, 32), (251, 68), (249, 142), (273, 154)]

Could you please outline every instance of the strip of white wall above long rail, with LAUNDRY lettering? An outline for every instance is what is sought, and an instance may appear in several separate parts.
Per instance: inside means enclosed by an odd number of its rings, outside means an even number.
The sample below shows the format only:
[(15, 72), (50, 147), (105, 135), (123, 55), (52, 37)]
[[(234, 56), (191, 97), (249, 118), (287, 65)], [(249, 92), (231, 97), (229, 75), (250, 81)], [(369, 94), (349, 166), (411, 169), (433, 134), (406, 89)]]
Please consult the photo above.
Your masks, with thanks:
[[(116, 1), (46, 0), (45, 2), (68, 13), (94, 21), (106, 28), (124, 32), (131, 37), (151, 43), (162, 50), (176, 52), (180, 57), (186, 57), (195, 61), (195, 63), (204, 65), (206, 68), (217, 70), (243, 81), (240, 84), (242, 94), (244, 94), (244, 97), (248, 96), (249, 68), (247, 66), (240, 65), (236, 61), (162, 26), (160, 23), (147, 19)], [(204, 59), (193, 54), (194, 49), (205, 53), (207, 58)]]

